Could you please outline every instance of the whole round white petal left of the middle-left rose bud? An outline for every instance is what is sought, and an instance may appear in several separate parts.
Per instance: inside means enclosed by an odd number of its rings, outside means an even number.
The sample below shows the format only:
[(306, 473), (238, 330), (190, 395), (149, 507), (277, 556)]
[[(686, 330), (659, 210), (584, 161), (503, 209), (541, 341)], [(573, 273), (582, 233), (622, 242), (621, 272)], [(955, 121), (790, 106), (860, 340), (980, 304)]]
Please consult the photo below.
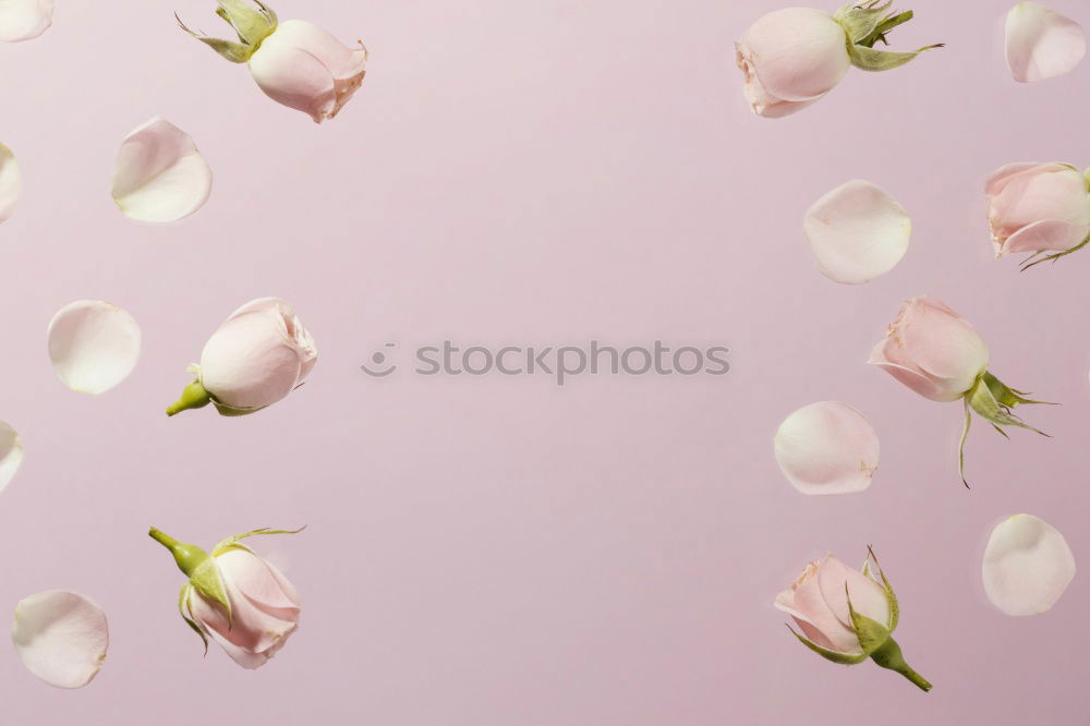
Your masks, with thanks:
[(102, 394), (124, 380), (140, 358), (140, 326), (101, 300), (69, 303), (49, 322), (49, 360), (72, 390)]

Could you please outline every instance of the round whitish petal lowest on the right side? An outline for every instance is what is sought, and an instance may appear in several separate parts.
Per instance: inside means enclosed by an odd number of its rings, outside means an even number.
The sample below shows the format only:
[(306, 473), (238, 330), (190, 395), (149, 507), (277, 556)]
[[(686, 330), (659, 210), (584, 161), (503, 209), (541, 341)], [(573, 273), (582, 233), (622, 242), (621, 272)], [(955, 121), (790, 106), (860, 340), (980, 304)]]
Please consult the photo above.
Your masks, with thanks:
[(1007, 615), (1052, 608), (1075, 577), (1075, 556), (1064, 535), (1032, 515), (1000, 522), (988, 539), (984, 593)]

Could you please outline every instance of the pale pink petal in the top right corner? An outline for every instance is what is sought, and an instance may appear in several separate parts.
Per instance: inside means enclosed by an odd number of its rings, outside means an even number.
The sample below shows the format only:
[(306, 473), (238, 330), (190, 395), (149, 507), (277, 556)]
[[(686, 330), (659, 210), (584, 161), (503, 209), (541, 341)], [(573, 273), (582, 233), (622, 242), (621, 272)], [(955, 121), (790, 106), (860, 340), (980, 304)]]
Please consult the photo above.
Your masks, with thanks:
[(1007, 68), (1018, 83), (1044, 81), (1075, 70), (1087, 52), (1082, 26), (1036, 2), (1007, 13)]

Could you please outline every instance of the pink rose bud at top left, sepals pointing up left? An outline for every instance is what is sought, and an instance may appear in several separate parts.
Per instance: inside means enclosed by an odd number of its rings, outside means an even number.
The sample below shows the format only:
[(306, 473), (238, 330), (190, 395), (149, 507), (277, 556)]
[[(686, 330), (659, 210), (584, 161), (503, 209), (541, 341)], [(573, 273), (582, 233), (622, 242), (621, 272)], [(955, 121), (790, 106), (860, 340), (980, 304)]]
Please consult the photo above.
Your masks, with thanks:
[(265, 94), (289, 108), (307, 113), (316, 123), (331, 119), (363, 83), (367, 50), (349, 48), (306, 21), (278, 22), (261, 0), (217, 0), (216, 14), (227, 21), (238, 40), (182, 29), (232, 63), (249, 63)]

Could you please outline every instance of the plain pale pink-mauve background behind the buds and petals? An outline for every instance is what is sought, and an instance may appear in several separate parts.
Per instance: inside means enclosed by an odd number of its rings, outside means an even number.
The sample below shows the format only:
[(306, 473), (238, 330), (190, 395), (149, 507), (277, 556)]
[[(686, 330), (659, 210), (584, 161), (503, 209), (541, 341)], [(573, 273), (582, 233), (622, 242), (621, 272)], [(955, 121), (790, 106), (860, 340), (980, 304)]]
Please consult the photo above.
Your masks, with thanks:
[[(1005, 2), (912, 3), (884, 75), (852, 71), (782, 121), (750, 114), (731, 41), (775, 0), (282, 0), (371, 75), (326, 126), (283, 109), (174, 26), (214, 3), (58, 2), (0, 47), (2, 141), (25, 193), (0, 228), (0, 418), (27, 457), (0, 497), (0, 606), (72, 589), (109, 614), (82, 691), (0, 645), (2, 724), (832, 726), (1090, 723), (1087, 576), (1047, 615), (992, 609), (998, 519), (1056, 525), (1090, 564), (1086, 493), (1090, 252), (1019, 275), (991, 259), (981, 184), (1015, 160), (1090, 164), (1090, 64), (1015, 84)], [(1054, 0), (1090, 24), (1090, 3)], [(834, 7), (829, 5), (829, 10)], [(169, 227), (113, 207), (118, 143), (162, 114), (216, 173)], [(869, 179), (913, 216), (888, 276), (836, 286), (807, 206)], [(971, 319), (994, 372), (1062, 408), (1053, 433), (986, 425), (955, 471), (960, 408), (863, 364), (899, 302)], [(307, 385), (245, 419), (168, 420), (185, 365), (235, 306), (293, 302), (322, 350)], [(133, 376), (92, 398), (45, 354), (78, 298), (131, 311)], [(724, 342), (710, 378), (365, 377), (387, 340)], [(822, 399), (882, 436), (870, 491), (797, 494), (772, 458), (783, 416)], [(305, 601), (266, 667), (238, 668), (175, 610), (182, 576), (149, 524), (205, 545), (255, 527)], [(873, 544), (898, 638), (930, 694), (802, 649), (771, 606), (804, 560)]]

